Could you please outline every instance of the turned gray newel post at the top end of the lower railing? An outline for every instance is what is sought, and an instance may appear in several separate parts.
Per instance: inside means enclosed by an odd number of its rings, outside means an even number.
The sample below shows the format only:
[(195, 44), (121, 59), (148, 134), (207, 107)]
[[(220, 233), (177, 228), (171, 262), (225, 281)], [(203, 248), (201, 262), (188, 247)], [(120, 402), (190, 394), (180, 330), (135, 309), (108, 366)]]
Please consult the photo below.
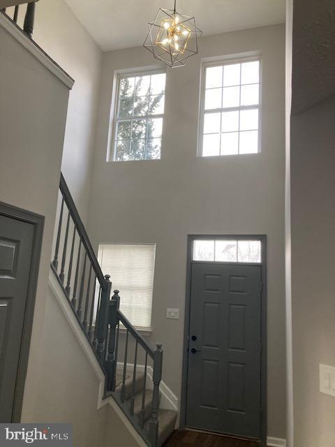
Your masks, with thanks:
[(114, 291), (112, 300), (109, 302), (109, 312), (108, 312), (108, 324), (110, 325), (110, 338), (108, 340), (108, 353), (107, 360), (105, 362), (105, 369), (107, 372), (107, 391), (115, 391), (116, 387), (116, 369), (117, 369), (117, 358), (115, 355), (116, 349), (116, 332), (117, 325), (119, 323), (119, 318), (117, 317), (117, 310), (119, 309), (119, 291)]

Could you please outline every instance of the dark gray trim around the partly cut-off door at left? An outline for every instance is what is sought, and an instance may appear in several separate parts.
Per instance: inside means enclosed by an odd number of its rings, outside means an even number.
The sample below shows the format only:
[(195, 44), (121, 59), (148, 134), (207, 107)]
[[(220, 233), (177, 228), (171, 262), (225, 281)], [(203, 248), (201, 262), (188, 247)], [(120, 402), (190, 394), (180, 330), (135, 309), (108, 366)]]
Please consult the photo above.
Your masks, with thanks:
[(29, 274), (29, 285), (27, 292), (26, 309), (24, 312), (24, 322), (22, 330), (22, 342), (20, 346), (20, 358), (17, 368), (17, 376), (15, 383), (14, 405), (12, 413), (12, 423), (20, 423), (22, 402), (24, 395), (24, 384), (26, 381), (29, 349), (31, 341), (31, 330), (33, 325), (36, 288), (38, 281), (38, 271), (40, 265), (40, 252), (43, 240), (43, 228), (45, 217), (31, 211), (22, 210), (21, 208), (9, 205), (8, 203), (0, 202), (0, 215), (9, 217), (10, 219), (17, 219), (26, 223), (34, 225), (34, 243), (31, 254), (31, 268)]

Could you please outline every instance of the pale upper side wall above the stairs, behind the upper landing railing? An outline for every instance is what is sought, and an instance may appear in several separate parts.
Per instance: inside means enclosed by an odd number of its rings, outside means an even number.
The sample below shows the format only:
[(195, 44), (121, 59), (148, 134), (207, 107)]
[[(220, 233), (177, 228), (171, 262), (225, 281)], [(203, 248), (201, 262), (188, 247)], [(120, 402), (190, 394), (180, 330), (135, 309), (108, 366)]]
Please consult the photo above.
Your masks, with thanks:
[[(25, 8), (20, 10), (22, 25)], [(8, 8), (8, 13), (12, 14), (13, 8)], [(68, 103), (61, 170), (85, 222), (102, 52), (63, 0), (36, 3), (33, 38), (75, 80)]]

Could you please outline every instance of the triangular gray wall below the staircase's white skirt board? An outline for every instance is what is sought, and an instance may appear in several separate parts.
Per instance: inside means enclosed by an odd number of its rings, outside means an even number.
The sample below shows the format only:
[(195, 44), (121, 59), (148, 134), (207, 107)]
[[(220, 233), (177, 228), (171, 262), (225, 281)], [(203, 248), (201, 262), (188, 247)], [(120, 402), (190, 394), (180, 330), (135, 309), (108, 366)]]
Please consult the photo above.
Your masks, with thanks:
[(106, 406), (97, 411), (99, 381), (50, 288), (40, 337), (36, 404), (25, 422), (70, 423), (74, 447), (102, 447), (107, 420)]

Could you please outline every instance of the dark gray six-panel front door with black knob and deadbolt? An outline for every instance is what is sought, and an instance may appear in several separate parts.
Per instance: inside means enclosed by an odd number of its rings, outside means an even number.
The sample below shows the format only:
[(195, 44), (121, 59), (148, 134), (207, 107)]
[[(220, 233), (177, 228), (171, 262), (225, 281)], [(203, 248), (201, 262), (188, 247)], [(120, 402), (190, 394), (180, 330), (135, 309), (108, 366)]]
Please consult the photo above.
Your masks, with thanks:
[(186, 425), (260, 439), (261, 266), (191, 274)]

